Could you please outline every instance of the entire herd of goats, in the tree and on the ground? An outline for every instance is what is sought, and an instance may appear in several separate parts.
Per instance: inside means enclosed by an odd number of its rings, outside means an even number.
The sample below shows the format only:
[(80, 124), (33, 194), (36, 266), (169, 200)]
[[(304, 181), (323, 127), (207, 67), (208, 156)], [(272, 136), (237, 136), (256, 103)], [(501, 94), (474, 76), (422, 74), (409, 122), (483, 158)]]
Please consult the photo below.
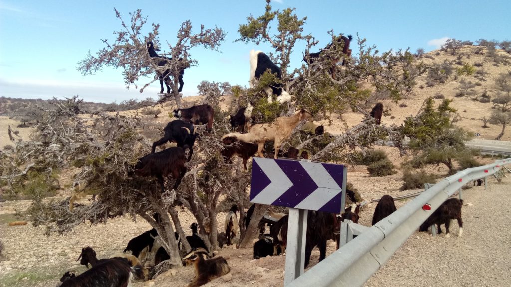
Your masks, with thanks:
[[(351, 37), (340, 37), (344, 41), (343, 53), (346, 55), (351, 54), (349, 50), (349, 43)], [(332, 44), (330, 44), (331, 46)], [(158, 65), (163, 66), (166, 64), (168, 58), (158, 56), (152, 42), (147, 42), (147, 49), (151, 58), (159, 58)], [(327, 46), (326, 49), (329, 49)], [(323, 51), (323, 50), (322, 50)], [(321, 52), (310, 54), (308, 62), (318, 58)], [(341, 58), (341, 57), (340, 57)], [(277, 78), (280, 78), (281, 70), (278, 68), (270, 58), (261, 51), (250, 52), (250, 85), (253, 86), (257, 83), (258, 79), (270, 70)], [(335, 69), (331, 71), (335, 73)], [(170, 89), (168, 83), (169, 70), (164, 73), (158, 72), (160, 79), (161, 92), (163, 92), (163, 82), (165, 81), (167, 88)], [(183, 71), (181, 70), (179, 76), (179, 90), (181, 90)], [(272, 102), (272, 97), (276, 96), (278, 103), (285, 103), (291, 100), (291, 95), (286, 92), (282, 85), (275, 84), (268, 86), (265, 91), (268, 93), (268, 102)], [(308, 159), (309, 155), (306, 151), (299, 154), (295, 148), (290, 148), (286, 153), (282, 153), (281, 145), (286, 141), (293, 129), (298, 123), (304, 119), (312, 121), (312, 115), (306, 109), (301, 109), (292, 116), (277, 117), (272, 123), (260, 123), (248, 126), (249, 119), (252, 112), (252, 106), (248, 103), (246, 107), (242, 107), (235, 115), (230, 116), (230, 124), (233, 130), (240, 132), (231, 132), (223, 135), (222, 143), (224, 150), (221, 155), (227, 162), (231, 157), (237, 156), (243, 159), (243, 167), (247, 170), (247, 160), (254, 156), (256, 153), (259, 157), (264, 157), (263, 148), (266, 141), (274, 142), (274, 158), (283, 156), (294, 159)], [(383, 112), (383, 104), (378, 103), (370, 115), (376, 118), (377, 124), (380, 124)], [(164, 128), (164, 135), (154, 141), (151, 153), (138, 159), (134, 168), (134, 174), (143, 177), (155, 177), (162, 192), (165, 190), (164, 178), (172, 176), (175, 179), (173, 186), (176, 189), (184, 174), (187, 172), (185, 162), (190, 161), (193, 155), (193, 146), (196, 140), (196, 133), (194, 125), (206, 124), (206, 131), (210, 132), (213, 127), (214, 110), (210, 105), (196, 105), (190, 108), (179, 108), (174, 110), (175, 119), (167, 124)], [(317, 126), (312, 122), (307, 123), (308, 129), (311, 133), (320, 135), (324, 132), (323, 126)], [(177, 147), (171, 147), (160, 152), (155, 152), (156, 147), (163, 145), (167, 141), (175, 142)], [(185, 157), (185, 150), (188, 150), (188, 158)], [(351, 190), (347, 190), (347, 196), (350, 197), (354, 205), (345, 209), (342, 215), (309, 211), (306, 235), (306, 260), (305, 266), (309, 265), (311, 252), (314, 247), (320, 250), (319, 261), (326, 257), (327, 241), (335, 240), (337, 248), (339, 248), (339, 230), (340, 222), (343, 220), (351, 220), (355, 223), (359, 219), (360, 205), (356, 204), (355, 194)], [(461, 205), (462, 201), (458, 199), (449, 199), (444, 202), (431, 216), (421, 225), (420, 231), (427, 231), (428, 227), (436, 224), (438, 233), (441, 233), (440, 224), (445, 224), (446, 234), (449, 234), (449, 224), (451, 219), (457, 219), (459, 225), (459, 233), (462, 232), (461, 222)], [(245, 221), (238, 222), (237, 213), (238, 207), (233, 205), (230, 208), (225, 218), (224, 230), (218, 235), (218, 245), (220, 248), (224, 244), (233, 244), (233, 238), (237, 235), (239, 224), (244, 224), (248, 227), (254, 204), (246, 211)], [(378, 202), (372, 224), (376, 224), (380, 220), (387, 217), (390, 213), (396, 211), (394, 200), (391, 196), (385, 195)], [(259, 241), (253, 245), (253, 258), (261, 258), (266, 256), (283, 254), (286, 252), (287, 244), (287, 227), (288, 215), (285, 213), (276, 213), (271, 208), (268, 210), (269, 214), (259, 223)], [(270, 218), (271, 220), (268, 220)], [(154, 216), (156, 223), (159, 222), (157, 216)], [(266, 228), (269, 227), (270, 233), (266, 233)], [(221, 256), (211, 258), (213, 254), (211, 245), (208, 241), (204, 241), (199, 235), (197, 223), (193, 223), (190, 228), (192, 235), (186, 236), (185, 240), (188, 241), (192, 250), (188, 252), (182, 259), (185, 264), (194, 266), (195, 277), (189, 287), (202, 285), (213, 278), (222, 276), (230, 271), (225, 258)], [(176, 235), (178, 246), (181, 238)], [(82, 287), (113, 287), (131, 285), (133, 278), (148, 279), (149, 267), (154, 267), (170, 258), (165, 248), (162, 247), (158, 240), (158, 233), (156, 229), (148, 230), (134, 238), (132, 238), (123, 253), (114, 255), (111, 258), (98, 259), (96, 252), (90, 248), (85, 247), (80, 254), (80, 263), (91, 268), (87, 271), (75, 275), (74, 272), (66, 272), (62, 278), (61, 286), (82, 286)]]

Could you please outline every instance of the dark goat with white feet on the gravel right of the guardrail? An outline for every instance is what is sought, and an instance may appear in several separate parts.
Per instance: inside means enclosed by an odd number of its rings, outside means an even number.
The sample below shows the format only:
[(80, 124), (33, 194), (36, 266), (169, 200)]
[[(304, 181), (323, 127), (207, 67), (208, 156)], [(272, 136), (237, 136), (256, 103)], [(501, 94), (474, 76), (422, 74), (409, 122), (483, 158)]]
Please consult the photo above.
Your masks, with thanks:
[(442, 229), (440, 229), (440, 224), (445, 224), (446, 226), (446, 237), (451, 236), (449, 234), (449, 226), (451, 225), (451, 220), (456, 219), (458, 221), (458, 236), (461, 236), (463, 233), (463, 222), (461, 221), (461, 206), (463, 205), (463, 201), (457, 198), (450, 198), (442, 203), (426, 221), (421, 224), (419, 227), (419, 231), (428, 231), (428, 227), (436, 224), (437, 233), (442, 233)]

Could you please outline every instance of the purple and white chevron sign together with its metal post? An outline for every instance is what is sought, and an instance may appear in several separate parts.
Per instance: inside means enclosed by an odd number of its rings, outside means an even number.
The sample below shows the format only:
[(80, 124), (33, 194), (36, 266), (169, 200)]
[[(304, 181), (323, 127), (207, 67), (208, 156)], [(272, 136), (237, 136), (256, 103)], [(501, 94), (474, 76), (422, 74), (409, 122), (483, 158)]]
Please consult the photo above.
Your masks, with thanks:
[(289, 207), (284, 285), (304, 273), (308, 211), (343, 211), (346, 171), (338, 164), (253, 158), (250, 202)]

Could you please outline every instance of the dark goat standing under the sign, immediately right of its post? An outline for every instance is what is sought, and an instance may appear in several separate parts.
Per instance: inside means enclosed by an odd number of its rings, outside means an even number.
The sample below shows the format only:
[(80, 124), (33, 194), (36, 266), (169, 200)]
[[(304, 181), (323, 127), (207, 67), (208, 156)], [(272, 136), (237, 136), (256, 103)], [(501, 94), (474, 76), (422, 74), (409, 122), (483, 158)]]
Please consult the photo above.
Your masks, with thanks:
[(319, 261), (327, 256), (327, 241), (339, 242), (336, 233), (340, 231), (340, 223), (334, 213), (309, 210), (307, 222), (305, 267), (309, 265), (315, 246), (319, 248)]

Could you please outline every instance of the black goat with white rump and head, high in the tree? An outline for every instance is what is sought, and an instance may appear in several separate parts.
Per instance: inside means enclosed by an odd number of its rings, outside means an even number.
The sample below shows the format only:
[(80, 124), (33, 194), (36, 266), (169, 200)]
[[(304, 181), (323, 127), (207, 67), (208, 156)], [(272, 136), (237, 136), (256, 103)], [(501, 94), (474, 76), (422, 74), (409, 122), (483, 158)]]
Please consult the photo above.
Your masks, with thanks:
[[(259, 82), (259, 78), (263, 76), (266, 70), (270, 70), (279, 80), (282, 80), (281, 68), (275, 65), (268, 55), (262, 51), (250, 51), (250, 79), (248, 85), (253, 88)], [(272, 94), (277, 95), (278, 103), (285, 103), (291, 101), (291, 95), (284, 90), (282, 83), (272, 83), (272, 85), (265, 87), (268, 94), (268, 103), (273, 103)]]

